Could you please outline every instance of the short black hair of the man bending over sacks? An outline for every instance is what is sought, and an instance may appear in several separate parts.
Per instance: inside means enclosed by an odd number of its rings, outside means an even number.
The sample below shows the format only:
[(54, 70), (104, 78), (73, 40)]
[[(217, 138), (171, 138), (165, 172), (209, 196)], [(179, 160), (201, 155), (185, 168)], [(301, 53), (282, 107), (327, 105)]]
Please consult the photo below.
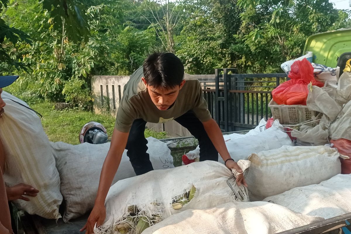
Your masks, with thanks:
[(172, 89), (180, 85), (184, 77), (184, 66), (173, 53), (150, 54), (143, 65), (147, 85), (154, 88)]

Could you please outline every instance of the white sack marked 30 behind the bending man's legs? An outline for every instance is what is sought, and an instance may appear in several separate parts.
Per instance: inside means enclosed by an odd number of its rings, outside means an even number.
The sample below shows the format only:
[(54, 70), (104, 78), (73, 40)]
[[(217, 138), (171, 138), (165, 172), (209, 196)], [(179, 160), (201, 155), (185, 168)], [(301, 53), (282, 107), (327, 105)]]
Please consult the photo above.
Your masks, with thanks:
[[(173, 158), (166, 143), (155, 138), (147, 138), (147, 153), (155, 170), (173, 168)], [(94, 206), (99, 187), (102, 164), (105, 161), (110, 143), (70, 145), (64, 142), (51, 142), (61, 178), (61, 193), (65, 200), (64, 221), (78, 218)], [(112, 182), (135, 176), (126, 151)]]

